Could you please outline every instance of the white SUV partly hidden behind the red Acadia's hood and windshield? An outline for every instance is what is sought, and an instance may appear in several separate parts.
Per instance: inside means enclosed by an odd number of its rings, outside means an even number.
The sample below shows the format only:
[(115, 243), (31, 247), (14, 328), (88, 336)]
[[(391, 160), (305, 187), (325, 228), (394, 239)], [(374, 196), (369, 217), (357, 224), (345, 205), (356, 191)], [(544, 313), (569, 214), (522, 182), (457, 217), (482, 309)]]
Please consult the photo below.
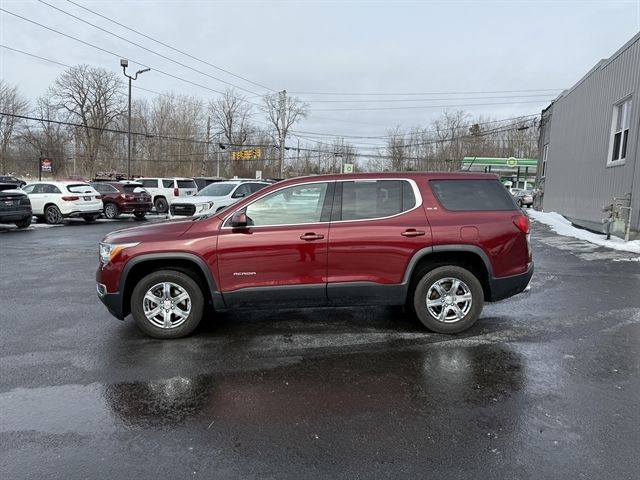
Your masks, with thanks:
[(191, 197), (177, 198), (171, 202), (171, 215), (204, 215), (222, 210), (258, 190), (268, 182), (260, 180), (228, 180), (204, 187)]

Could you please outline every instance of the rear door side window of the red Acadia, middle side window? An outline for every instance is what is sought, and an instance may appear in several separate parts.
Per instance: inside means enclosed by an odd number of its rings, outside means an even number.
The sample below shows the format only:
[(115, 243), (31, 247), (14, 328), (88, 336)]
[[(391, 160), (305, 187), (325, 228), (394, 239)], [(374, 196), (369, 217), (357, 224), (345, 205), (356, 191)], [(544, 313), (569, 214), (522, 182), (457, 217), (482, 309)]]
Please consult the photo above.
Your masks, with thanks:
[(342, 183), (342, 220), (390, 217), (415, 205), (413, 188), (404, 180)]

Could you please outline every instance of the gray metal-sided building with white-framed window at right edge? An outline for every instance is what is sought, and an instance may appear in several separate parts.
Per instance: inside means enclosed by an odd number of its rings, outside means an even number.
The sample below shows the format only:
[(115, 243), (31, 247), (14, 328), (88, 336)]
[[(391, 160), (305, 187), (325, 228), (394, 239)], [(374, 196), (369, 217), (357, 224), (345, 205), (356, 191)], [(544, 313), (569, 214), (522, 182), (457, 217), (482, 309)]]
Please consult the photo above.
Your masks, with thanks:
[(640, 33), (542, 112), (541, 207), (640, 238), (639, 137)]

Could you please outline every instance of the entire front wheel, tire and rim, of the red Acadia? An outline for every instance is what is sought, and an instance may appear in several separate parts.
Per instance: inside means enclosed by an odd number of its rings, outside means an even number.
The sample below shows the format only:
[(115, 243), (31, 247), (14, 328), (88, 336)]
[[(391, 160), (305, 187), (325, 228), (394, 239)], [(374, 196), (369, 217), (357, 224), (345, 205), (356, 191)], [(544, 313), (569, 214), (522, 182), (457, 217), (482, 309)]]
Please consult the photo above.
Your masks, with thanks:
[(138, 327), (154, 338), (181, 338), (200, 323), (204, 296), (188, 275), (158, 270), (133, 289), (131, 314)]

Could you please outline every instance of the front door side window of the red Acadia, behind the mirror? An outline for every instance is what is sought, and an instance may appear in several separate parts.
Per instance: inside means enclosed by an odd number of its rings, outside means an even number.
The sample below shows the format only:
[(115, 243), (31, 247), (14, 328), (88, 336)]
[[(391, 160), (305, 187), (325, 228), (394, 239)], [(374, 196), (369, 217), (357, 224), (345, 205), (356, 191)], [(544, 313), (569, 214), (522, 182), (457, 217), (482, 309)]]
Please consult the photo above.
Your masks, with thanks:
[(247, 207), (250, 225), (318, 223), (327, 194), (326, 183), (296, 185), (256, 200)]

